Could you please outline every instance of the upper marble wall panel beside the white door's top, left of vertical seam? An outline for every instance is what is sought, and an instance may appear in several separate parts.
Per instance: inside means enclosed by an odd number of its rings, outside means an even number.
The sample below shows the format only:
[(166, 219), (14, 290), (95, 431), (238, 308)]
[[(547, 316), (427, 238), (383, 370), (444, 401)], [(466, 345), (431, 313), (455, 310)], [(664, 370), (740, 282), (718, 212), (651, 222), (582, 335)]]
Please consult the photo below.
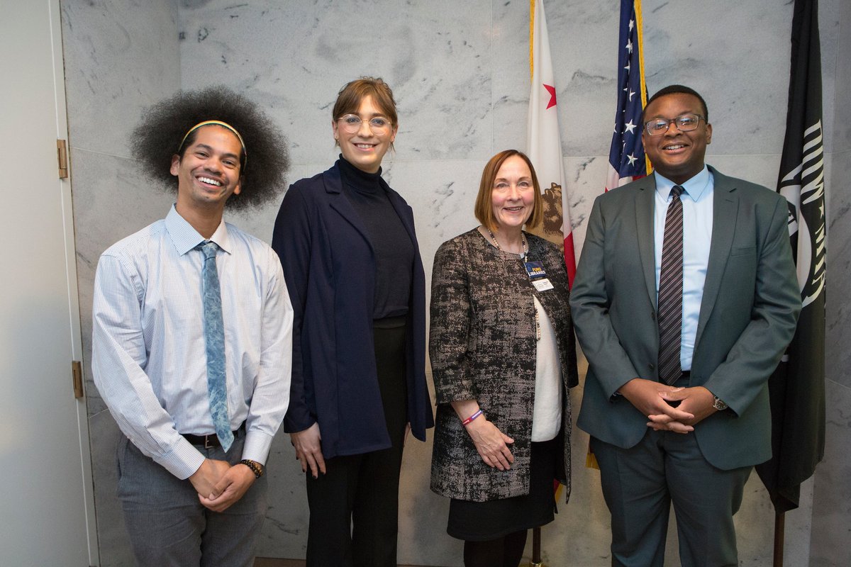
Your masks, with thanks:
[(60, 5), (71, 146), (129, 156), (142, 109), (180, 88), (177, 3)]

